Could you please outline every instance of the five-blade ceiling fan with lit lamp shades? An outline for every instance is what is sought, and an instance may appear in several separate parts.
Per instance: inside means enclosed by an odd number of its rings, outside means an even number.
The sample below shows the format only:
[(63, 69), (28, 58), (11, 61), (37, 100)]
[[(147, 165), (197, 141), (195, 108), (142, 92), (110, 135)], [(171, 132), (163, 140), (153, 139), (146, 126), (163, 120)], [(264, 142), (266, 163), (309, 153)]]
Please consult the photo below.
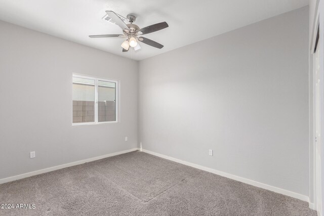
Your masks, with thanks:
[(164, 46), (159, 44), (158, 42), (155, 42), (154, 40), (150, 40), (146, 37), (142, 37), (143, 34), (152, 33), (164, 28), (169, 27), (168, 23), (161, 22), (156, 23), (153, 25), (146, 26), (144, 28), (139, 28), (137, 25), (133, 24), (135, 22), (136, 17), (132, 14), (127, 15), (127, 20), (130, 22), (130, 24), (126, 24), (120, 17), (114, 13), (113, 11), (106, 11), (109, 19), (111, 19), (116, 25), (118, 25), (122, 30), (123, 34), (101, 34), (101, 35), (89, 35), (91, 38), (97, 38), (97, 37), (118, 37), (118, 38), (127, 38), (123, 44), (121, 44), (121, 47), (123, 48), (123, 52), (127, 52), (130, 50), (130, 48), (134, 48), (135, 51), (138, 51), (141, 49), (141, 46), (139, 45), (139, 41), (143, 42), (144, 44), (147, 44), (149, 46), (161, 49)]

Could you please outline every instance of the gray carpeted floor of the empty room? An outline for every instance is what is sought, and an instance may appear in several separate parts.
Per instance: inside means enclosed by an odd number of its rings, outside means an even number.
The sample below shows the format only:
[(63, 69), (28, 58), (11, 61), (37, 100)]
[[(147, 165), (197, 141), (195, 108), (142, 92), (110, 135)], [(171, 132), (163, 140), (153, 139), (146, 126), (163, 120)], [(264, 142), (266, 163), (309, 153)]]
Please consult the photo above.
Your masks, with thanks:
[(308, 203), (130, 152), (0, 185), (0, 215), (316, 215)]

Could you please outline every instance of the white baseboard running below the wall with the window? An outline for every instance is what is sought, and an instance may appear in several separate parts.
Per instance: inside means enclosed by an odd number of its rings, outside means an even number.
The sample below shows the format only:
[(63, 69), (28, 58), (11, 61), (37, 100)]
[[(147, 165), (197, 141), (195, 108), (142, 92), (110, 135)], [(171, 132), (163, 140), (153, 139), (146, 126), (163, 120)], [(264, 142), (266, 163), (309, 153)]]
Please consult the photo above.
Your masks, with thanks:
[(114, 153), (111, 153), (111, 154), (105, 154), (105, 155), (92, 157), (92, 158), (88, 158), (88, 159), (84, 159), (84, 160), (79, 160), (79, 161), (75, 161), (75, 162), (71, 162), (71, 163), (65, 163), (65, 164), (62, 164), (62, 165), (52, 166), (52, 167), (45, 168), (45, 169), (39, 169), (39, 170), (36, 170), (36, 171), (27, 172), (25, 174), (12, 176), (12, 177), (8, 177), (8, 178), (5, 178), (5, 179), (0, 179), (0, 184), (6, 183), (6, 182), (12, 182), (12, 181), (19, 180), (19, 179), (24, 179), (24, 178), (27, 178), (27, 177), (43, 174), (45, 172), (50, 172), (50, 171), (54, 171), (54, 170), (57, 170), (57, 169), (62, 169), (62, 168), (69, 167), (69, 166), (75, 166), (75, 165), (82, 164), (82, 163), (87, 163), (87, 162), (91, 162), (91, 161), (95, 161), (95, 160), (100, 160), (100, 159), (115, 156), (115, 155), (118, 155), (118, 154), (125, 154), (125, 153), (136, 151), (136, 150), (138, 150), (138, 148), (133, 148), (133, 149), (125, 150), (125, 151), (114, 152)]

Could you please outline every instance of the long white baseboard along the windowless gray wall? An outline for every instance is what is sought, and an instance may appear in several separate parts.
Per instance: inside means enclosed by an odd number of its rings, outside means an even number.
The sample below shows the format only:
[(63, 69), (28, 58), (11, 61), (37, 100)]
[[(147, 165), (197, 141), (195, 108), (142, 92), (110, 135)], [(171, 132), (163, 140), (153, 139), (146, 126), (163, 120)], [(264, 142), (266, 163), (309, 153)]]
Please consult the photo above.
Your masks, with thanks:
[[(309, 202), (308, 196), (305, 196), (305, 195), (302, 195), (302, 194), (298, 194), (298, 193), (288, 191), (288, 190), (285, 190), (285, 189), (281, 189), (281, 188), (273, 187), (273, 186), (270, 186), (270, 185), (266, 185), (266, 184), (256, 182), (256, 181), (253, 181), (253, 180), (250, 180), (250, 179), (238, 177), (238, 176), (235, 176), (235, 175), (232, 175), (232, 174), (228, 174), (227, 172), (223, 172), (223, 171), (219, 171), (219, 170), (216, 170), (216, 169), (208, 168), (206, 166), (201, 166), (201, 165), (198, 165), (198, 164), (195, 164), (195, 163), (190, 163), (190, 162), (187, 162), (187, 161), (184, 161), (184, 160), (169, 157), (169, 156), (159, 154), (159, 153), (155, 153), (155, 152), (152, 152), (152, 151), (149, 151), (149, 150), (142, 149), (142, 151), (146, 152), (148, 154), (155, 155), (157, 157), (165, 158), (165, 159), (172, 160), (172, 161), (175, 161), (175, 162), (178, 162), (178, 163), (182, 163), (184, 165), (192, 166), (192, 167), (197, 168), (197, 169), (212, 172), (213, 174), (216, 174), (216, 175), (219, 175), (219, 176), (223, 176), (223, 177), (226, 177), (226, 178), (229, 178), (229, 179), (233, 179), (233, 180), (236, 180), (236, 181), (239, 181), (239, 182), (243, 182), (243, 183), (246, 183), (246, 184), (249, 184), (249, 185), (253, 185), (253, 186), (256, 186), (256, 187), (259, 187), (259, 188), (263, 188), (263, 189), (266, 189), (266, 190), (269, 190), (269, 191), (273, 191), (273, 192), (276, 192), (276, 193), (279, 193), (279, 194), (284, 194), (284, 195), (287, 195), (287, 196), (290, 196), (290, 197), (293, 197), (293, 198), (300, 199), (302, 201)], [(309, 203), (309, 206), (311, 204), (312, 203)]]

